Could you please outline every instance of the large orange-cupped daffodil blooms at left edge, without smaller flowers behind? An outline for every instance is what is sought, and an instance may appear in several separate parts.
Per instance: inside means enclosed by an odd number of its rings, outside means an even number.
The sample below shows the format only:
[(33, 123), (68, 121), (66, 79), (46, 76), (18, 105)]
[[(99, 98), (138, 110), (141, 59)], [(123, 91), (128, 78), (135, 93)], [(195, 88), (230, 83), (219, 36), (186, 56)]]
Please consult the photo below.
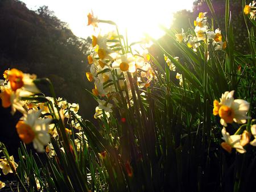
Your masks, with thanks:
[(35, 149), (43, 152), (44, 145), (49, 142), (48, 125), (51, 120), (40, 118), (41, 111), (30, 111), (27, 101), (22, 99), (40, 93), (34, 84), (36, 76), (11, 69), (6, 70), (3, 77), (5, 80), (0, 85), (2, 107), (11, 107), (12, 114), (16, 110), (22, 112), (23, 116), (16, 124), (20, 139), (26, 144), (33, 142)]

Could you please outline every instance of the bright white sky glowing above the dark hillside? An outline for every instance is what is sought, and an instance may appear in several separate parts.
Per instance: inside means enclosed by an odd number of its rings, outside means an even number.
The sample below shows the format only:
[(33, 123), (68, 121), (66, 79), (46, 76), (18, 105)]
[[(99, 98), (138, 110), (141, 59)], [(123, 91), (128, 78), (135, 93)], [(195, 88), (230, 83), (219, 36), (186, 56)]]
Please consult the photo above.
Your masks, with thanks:
[[(144, 33), (159, 38), (164, 35), (159, 24), (170, 27), (172, 14), (176, 11), (191, 10), (193, 0), (22, 0), (28, 9), (36, 10), (46, 5), (55, 15), (67, 22), (76, 36), (88, 37), (93, 28), (86, 26), (87, 14), (93, 10), (98, 19), (113, 20), (120, 31), (125, 31), (129, 41), (138, 41)], [(103, 32), (109, 30), (108, 24), (101, 24)], [(125, 34), (123, 34), (125, 35)]]

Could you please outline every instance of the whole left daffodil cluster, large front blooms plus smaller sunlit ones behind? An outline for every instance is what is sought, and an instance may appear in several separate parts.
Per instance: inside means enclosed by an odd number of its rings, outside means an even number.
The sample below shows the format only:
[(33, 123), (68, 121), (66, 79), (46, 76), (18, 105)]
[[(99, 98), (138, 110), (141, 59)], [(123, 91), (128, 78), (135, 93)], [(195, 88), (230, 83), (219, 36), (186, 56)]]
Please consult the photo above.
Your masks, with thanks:
[[(34, 84), (35, 75), (24, 74), (18, 69), (6, 70), (3, 74), (5, 80), (0, 81), (0, 97), (2, 107), (11, 107), (11, 113), (19, 111), (23, 114), (16, 124), (16, 131), (20, 140), (25, 144), (32, 143), (36, 151), (49, 153), (54, 156), (50, 138), (60, 139), (57, 127), (51, 123), (53, 119), (65, 119), (69, 128), (65, 128), (67, 135), (71, 135), (71, 128), (78, 132), (76, 143), (80, 145), (80, 135), (82, 121), (77, 113), (79, 105), (68, 103), (63, 98), (55, 99), (46, 97), (47, 102), (39, 102), (39, 89)], [(27, 100), (27, 98), (30, 98)], [(55, 105), (56, 102), (56, 105)], [(80, 147), (78, 147), (80, 148)]]

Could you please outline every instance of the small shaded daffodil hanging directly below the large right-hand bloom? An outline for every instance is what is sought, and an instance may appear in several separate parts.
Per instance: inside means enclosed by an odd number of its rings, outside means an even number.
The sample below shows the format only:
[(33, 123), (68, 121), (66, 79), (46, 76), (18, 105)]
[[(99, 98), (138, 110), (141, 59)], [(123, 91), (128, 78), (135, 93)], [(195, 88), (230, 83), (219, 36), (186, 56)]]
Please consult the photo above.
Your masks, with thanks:
[(242, 147), (240, 144), (241, 135), (229, 135), (228, 132), (226, 132), (226, 128), (223, 127), (221, 130), (222, 138), (225, 142), (221, 143), (221, 147), (224, 148), (226, 151), (231, 153), (232, 148), (235, 148), (238, 153), (245, 153), (246, 150)]

